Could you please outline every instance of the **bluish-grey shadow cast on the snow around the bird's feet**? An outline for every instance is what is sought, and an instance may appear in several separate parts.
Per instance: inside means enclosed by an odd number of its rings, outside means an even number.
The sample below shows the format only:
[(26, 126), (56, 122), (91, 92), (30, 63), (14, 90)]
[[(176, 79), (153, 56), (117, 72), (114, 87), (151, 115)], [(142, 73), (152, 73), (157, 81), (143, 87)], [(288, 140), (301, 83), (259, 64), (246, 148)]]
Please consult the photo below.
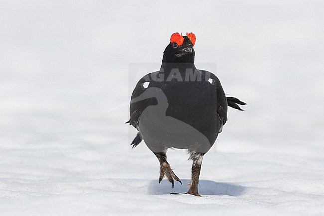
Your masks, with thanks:
[[(189, 190), (190, 180), (182, 180), (182, 185), (179, 182), (174, 183), (174, 189), (172, 185), (167, 180), (162, 180), (159, 184), (158, 180), (152, 180), (149, 183), (148, 194), (170, 194), (172, 192), (184, 193)], [(245, 188), (240, 185), (221, 183), (211, 180), (199, 180), (198, 186), (199, 193), (202, 195), (228, 195), (228, 196), (238, 196), (244, 194)]]

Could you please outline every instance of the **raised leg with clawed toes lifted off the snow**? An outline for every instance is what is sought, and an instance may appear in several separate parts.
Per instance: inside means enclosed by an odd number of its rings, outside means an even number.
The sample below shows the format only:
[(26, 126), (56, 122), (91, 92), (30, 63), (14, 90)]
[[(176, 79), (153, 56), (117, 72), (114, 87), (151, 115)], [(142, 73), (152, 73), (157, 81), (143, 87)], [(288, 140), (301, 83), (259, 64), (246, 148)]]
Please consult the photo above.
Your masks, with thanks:
[(155, 156), (157, 156), (159, 162), (160, 162), (160, 177), (159, 177), (159, 183), (162, 181), (164, 177), (168, 179), (170, 183), (172, 183), (172, 188), (174, 188), (174, 181), (178, 181), (182, 184), (179, 177), (175, 175), (173, 170), (171, 169), (170, 164), (166, 161), (166, 153), (165, 152), (158, 152), (154, 153)]

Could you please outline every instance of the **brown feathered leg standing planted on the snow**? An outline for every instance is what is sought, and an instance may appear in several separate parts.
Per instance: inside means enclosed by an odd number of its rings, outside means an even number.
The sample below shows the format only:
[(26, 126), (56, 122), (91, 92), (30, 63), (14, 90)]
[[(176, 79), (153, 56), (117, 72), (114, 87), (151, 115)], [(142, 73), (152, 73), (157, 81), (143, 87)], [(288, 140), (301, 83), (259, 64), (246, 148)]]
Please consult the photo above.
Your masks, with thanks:
[(191, 183), (188, 194), (192, 194), (195, 196), (201, 197), (198, 193), (198, 183), (199, 183), (199, 176), (202, 164), (202, 158), (204, 153), (191, 153), (190, 159), (192, 160), (192, 169), (191, 169)]

